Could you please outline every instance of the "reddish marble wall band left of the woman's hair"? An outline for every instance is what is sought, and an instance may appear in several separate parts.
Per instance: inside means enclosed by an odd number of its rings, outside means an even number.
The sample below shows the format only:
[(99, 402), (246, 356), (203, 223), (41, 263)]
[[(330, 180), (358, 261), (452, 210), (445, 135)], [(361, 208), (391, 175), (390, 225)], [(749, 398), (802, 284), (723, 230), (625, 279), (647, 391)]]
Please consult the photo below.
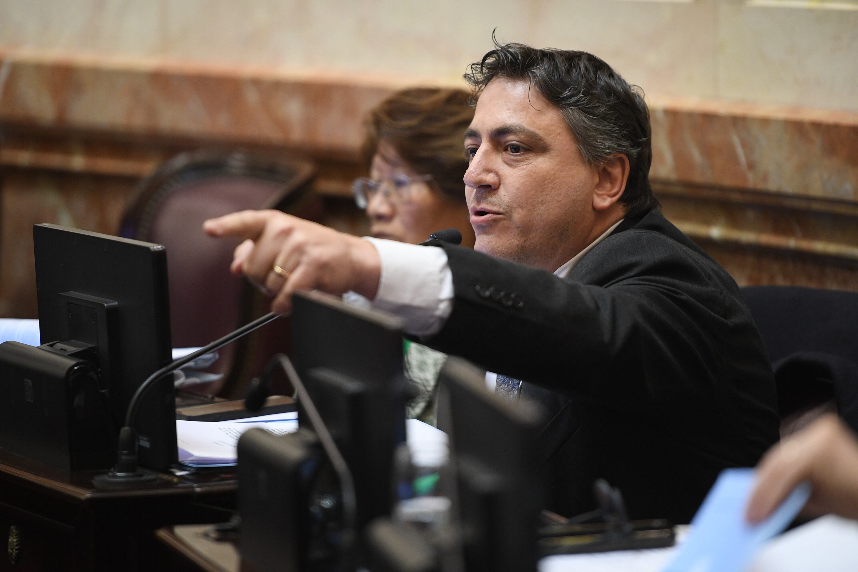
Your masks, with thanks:
[(353, 157), (391, 87), (245, 69), (119, 67), (0, 54), (0, 121), (286, 144)]

